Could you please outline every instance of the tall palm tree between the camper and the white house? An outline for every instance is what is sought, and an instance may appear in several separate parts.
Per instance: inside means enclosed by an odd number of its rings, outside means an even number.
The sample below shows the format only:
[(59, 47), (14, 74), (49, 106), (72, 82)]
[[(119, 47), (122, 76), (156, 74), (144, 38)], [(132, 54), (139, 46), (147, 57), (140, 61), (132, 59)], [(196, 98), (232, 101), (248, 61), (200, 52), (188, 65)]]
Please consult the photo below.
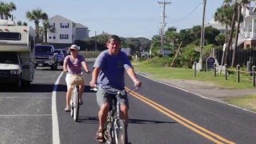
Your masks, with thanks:
[(38, 40), (39, 40), (39, 22), (40, 22), (40, 20), (48, 19), (48, 15), (46, 13), (42, 12), (41, 9), (36, 9), (36, 10), (32, 10), (31, 12), (27, 11), (26, 12), (26, 18), (28, 18), (29, 21), (34, 21), (35, 31), (36, 31), (35, 41), (38, 43)]

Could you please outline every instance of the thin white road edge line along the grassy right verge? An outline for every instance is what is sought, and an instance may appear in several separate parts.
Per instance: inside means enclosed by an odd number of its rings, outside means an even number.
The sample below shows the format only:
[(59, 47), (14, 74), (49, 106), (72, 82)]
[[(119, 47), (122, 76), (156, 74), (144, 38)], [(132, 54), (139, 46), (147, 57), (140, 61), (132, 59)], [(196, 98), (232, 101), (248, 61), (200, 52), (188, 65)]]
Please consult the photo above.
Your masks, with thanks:
[[(155, 79), (153, 79), (153, 78), (149, 78), (149, 77), (147, 77), (146, 75), (143, 75), (143, 74), (139, 74), (139, 75), (141, 75), (142, 77), (148, 78), (148, 79), (150, 79), (150, 80), (152, 80), (152, 81), (154, 81), (154, 82), (159, 82), (159, 83), (162, 83), (162, 84), (164, 84), (164, 85), (166, 85), (166, 86), (172, 86), (172, 87), (177, 88), (177, 89), (179, 89), (179, 90), (186, 91), (187, 93), (195, 94), (195, 93), (192, 93), (192, 92), (190, 92), (190, 91), (188, 91), (188, 90), (182, 89), (182, 88), (180, 88), (180, 87), (178, 87), (178, 86), (174, 86), (174, 85), (168, 84), (168, 83), (166, 83), (166, 82), (160, 82), (160, 81), (155, 80)], [(219, 101), (217, 101), (217, 100), (215, 100), (215, 99), (205, 97), (205, 96), (203, 96), (203, 95), (201, 95), (201, 94), (195, 94), (195, 95), (198, 95), (198, 96), (201, 97), (201, 98), (209, 99), (209, 100), (214, 101), (214, 102), (219, 102)], [(224, 102), (219, 102), (219, 103), (224, 103)], [(229, 103), (224, 103), (224, 104), (226, 104), (226, 105), (228, 105), (228, 106), (233, 106), (233, 107), (238, 108), (238, 109), (241, 109), (241, 110), (248, 111), (248, 112), (250, 112), (250, 113), (256, 114), (256, 112), (254, 112), (254, 111), (246, 110), (246, 109), (244, 109), (244, 108), (242, 108), (242, 107), (239, 107), (239, 106), (234, 106), (234, 105), (231, 105), (231, 104), (229, 104)]]

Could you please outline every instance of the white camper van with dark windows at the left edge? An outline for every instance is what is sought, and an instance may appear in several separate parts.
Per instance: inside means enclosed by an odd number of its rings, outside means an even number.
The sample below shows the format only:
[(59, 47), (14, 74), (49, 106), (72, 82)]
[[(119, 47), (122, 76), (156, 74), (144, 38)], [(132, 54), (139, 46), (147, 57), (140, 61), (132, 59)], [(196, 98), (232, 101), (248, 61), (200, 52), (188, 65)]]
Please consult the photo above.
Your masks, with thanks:
[(20, 90), (34, 79), (34, 35), (31, 26), (0, 20), (0, 83)]

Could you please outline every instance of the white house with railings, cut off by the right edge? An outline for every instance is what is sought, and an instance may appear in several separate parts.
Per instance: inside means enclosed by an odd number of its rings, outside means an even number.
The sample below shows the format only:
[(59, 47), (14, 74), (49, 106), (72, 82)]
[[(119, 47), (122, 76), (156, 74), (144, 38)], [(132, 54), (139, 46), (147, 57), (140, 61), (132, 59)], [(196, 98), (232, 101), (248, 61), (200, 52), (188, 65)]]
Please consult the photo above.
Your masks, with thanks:
[(244, 21), (240, 23), (238, 38), (238, 43), (243, 42), (244, 48), (256, 47), (256, 5), (251, 2), (248, 7), (242, 7)]

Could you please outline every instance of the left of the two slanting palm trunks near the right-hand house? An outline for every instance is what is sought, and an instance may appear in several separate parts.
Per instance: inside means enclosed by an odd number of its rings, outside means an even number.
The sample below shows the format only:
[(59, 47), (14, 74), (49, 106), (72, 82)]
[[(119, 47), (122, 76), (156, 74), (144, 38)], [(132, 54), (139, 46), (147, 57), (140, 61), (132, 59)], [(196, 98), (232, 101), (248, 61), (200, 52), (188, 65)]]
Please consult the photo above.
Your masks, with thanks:
[(234, 13), (233, 13), (233, 16), (232, 16), (232, 23), (231, 23), (231, 30), (230, 30), (230, 39), (229, 39), (229, 42), (227, 43), (227, 47), (226, 47), (226, 50), (225, 50), (226, 54), (225, 54), (225, 58), (224, 58), (224, 64), (226, 64), (227, 56), (229, 54), (231, 42), (232, 42), (232, 39), (233, 39), (236, 11), (237, 11), (237, 6), (234, 5)]

